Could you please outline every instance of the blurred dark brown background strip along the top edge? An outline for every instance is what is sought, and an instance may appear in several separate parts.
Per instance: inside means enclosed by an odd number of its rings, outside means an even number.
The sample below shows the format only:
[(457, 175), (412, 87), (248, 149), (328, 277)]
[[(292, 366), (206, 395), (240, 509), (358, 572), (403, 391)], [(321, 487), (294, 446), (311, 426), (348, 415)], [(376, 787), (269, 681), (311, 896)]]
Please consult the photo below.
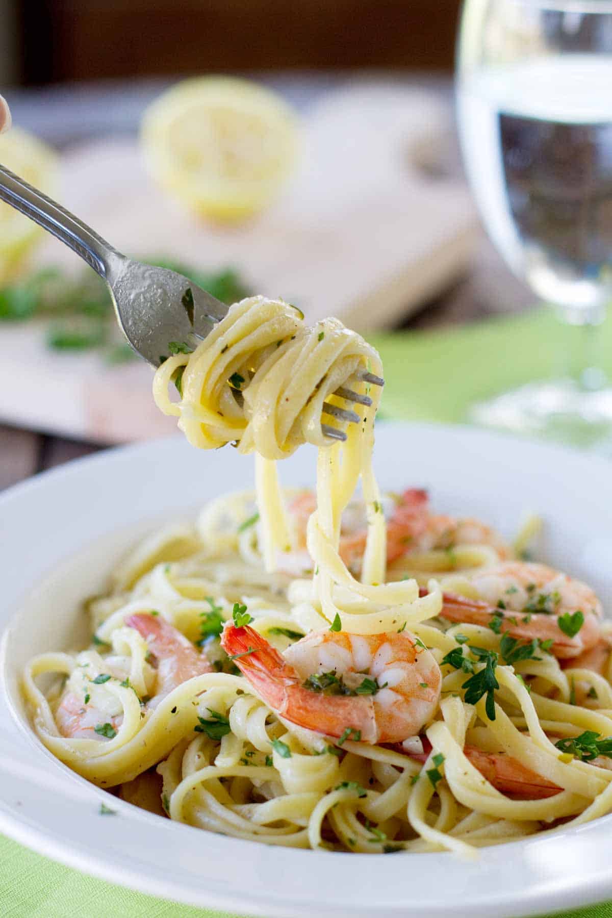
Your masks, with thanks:
[(461, 0), (0, 0), (6, 17), (11, 3), (17, 82), (25, 85), (260, 69), (450, 71), (461, 6)]

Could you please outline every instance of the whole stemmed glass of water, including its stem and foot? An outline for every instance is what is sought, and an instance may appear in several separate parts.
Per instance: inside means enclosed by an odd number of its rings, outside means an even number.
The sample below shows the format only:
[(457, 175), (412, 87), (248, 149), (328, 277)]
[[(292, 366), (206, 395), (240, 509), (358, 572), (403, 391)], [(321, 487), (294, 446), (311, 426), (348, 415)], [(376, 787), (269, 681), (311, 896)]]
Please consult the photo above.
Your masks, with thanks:
[(456, 84), (485, 228), (573, 327), (564, 378), (477, 403), (472, 420), (608, 451), (612, 388), (594, 354), (612, 299), (611, 0), (465, 0)]

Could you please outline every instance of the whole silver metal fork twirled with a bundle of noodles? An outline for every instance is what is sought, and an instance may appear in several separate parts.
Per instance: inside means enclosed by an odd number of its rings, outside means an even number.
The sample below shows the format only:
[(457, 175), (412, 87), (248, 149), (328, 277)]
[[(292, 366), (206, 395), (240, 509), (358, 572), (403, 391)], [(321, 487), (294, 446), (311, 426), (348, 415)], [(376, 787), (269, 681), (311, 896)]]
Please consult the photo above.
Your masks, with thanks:
[[(200, 341), (228, 314), (228, 306), (195, 285), (184, 274), (136, 262), (117, 252), (112, 245), (37, 188), (0, 165), (0, 200), (76, 252), (90, 268), (104, 278), (115, 307), (119, 328), (130, 346), (152, 366), (159, 366), (171, 341), (195, 349)], [(372, 373), (356, 376), (372, 386), (384, 379)], [(334, 395), (347, 402), (372, 405), (369, 396), (341, 386)], [(357, 423), (351, 409), (323, 403), (323, 413), (338, 420)], [(321, 431), (334, 440), (346, 440), (346, 433), (321, 423)]]

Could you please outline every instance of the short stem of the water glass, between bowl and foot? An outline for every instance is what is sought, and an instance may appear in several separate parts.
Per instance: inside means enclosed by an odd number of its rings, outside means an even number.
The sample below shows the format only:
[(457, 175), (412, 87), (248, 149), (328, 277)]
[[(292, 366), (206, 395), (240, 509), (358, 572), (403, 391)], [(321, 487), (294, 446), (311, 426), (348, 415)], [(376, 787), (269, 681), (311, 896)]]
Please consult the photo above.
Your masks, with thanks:
[(562, 322), (569, 326), (566, 335), (566, 366), (575, 384), (584, 392), (596, 392), (606, 386), (606, 373), (599, 357), (600, 328), (606, 318), (606, 308), (594, 306), (562, 307)]

